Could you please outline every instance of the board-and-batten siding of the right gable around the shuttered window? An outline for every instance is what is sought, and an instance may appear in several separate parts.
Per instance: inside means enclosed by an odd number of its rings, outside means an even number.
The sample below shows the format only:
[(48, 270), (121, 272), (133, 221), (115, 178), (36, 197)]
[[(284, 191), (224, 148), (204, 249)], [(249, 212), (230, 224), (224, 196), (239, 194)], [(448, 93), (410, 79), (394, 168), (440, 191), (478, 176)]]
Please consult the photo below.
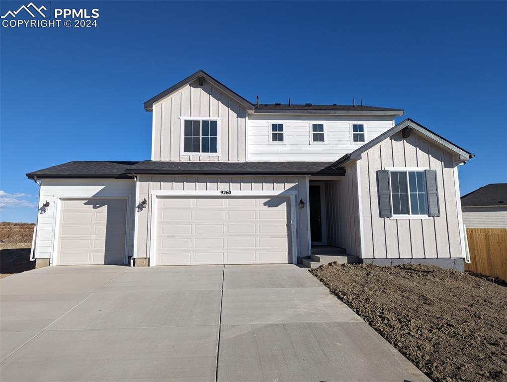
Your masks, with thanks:
[[(459, 190), (455, 158), (417, 133), (408, 138), (396, 133), (363, 153), (359, 162), (360, 210), (363, 217), (361, 257), (386, 258), (459, 258), (462, 257)], [(377, 194), (377, 170), (389, 167), (421, 167), (437, 170), (440, 217), (426, 219), (381, 218)], [(349, 169), (347, 167), (347, 175)], [(353, 182), (356, 183), (356, 182)], [(355, 192), (354, 186), (348, 192)], [(355, 209), (355, 207), (354, 207)], [(343, 213), (343, 210), (342, 210)], [(352, 211), (350, 215), (356, 214)], [(350, 218), (352, 219), (352, 218)], [(353, 221), (346, 227), (359, 232)], [(344, 240), (357, 243), (345, 229)], [(347, 242), (344, 242), (346, 245)], [(348, 247), (347, 247), (348, 248)]]

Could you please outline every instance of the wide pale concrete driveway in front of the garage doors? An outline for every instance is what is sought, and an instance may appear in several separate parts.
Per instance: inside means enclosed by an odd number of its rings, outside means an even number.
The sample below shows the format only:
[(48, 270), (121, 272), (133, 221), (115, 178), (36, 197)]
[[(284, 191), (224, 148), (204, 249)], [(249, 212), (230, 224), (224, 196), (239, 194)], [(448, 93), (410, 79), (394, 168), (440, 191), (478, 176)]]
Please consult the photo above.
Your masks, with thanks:
[(429, 381), (295, 265), (62, 266), (0, 281), (7, 381)]

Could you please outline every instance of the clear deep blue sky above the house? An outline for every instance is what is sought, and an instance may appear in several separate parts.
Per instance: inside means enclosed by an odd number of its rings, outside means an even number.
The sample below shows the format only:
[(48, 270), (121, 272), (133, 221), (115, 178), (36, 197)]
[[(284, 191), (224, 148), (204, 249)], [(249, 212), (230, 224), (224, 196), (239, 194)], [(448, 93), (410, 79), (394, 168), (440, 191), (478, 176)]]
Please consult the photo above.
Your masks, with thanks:
[(412, 118), (476, 154), (459, 168), (461, 194), (507, 182), (506, 2), (52, 7), (98, 8), (98, 26), (1, 28), (0, 220), (35, 221), (39, 190), (26, 172), (149, 159), (143, 101), (199, 68), (251, 101), (355, 97), (405, 109), (398, 121)]

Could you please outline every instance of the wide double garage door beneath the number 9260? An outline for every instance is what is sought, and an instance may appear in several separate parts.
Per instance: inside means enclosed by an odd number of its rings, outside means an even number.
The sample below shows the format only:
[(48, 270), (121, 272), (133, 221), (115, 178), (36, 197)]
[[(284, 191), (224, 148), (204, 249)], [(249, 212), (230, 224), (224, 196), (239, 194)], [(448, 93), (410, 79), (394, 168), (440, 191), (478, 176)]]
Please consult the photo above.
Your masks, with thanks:
[(288, 263), (287, 197), (161, 197), (157, 265)]

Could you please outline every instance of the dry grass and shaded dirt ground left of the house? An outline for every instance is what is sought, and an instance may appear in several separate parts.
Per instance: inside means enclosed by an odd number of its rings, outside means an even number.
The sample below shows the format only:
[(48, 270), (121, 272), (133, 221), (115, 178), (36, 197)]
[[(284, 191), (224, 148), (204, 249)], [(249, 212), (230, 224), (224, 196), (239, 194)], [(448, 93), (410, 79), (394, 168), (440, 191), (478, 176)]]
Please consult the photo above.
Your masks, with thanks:
[(0, 279), (35, 268), (30, 261), (32, 223), (0, 222)]

